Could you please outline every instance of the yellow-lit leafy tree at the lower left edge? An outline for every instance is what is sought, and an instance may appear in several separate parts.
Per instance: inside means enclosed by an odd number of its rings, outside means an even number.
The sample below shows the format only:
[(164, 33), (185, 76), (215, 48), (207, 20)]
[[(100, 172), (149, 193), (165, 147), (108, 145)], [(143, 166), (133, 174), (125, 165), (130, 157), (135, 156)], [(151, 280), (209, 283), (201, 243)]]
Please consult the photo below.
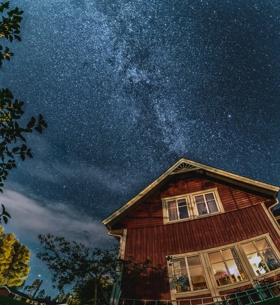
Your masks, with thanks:
[(12, 233), (0, 227), (0, 286), (19, 286), (27, 278), (31, 252)]

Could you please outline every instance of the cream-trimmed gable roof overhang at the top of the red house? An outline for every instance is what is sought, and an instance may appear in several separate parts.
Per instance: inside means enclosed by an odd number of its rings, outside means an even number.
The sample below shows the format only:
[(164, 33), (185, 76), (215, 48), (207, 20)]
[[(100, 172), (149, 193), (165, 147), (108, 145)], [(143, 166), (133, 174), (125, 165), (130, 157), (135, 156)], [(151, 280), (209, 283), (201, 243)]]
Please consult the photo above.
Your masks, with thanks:
[(276, 198), (279, 192), (279, 187), (277, 186), (181, 158), (157, 179), (155, 179), (150, 185), (148, 185), (143, 191), (138, 193), (135, 197), (113, 212), (113, 214), (102, 220), (102, 223), (110, 230), (111, 227), (113, 227), (116, 223), (130, 214), (130, 212), (157, 192), (172, 177), (172, 175), (188, 171), (203, 173), (206, 176), (217, 178), (230, 184), (262, 193), (271, 199)]

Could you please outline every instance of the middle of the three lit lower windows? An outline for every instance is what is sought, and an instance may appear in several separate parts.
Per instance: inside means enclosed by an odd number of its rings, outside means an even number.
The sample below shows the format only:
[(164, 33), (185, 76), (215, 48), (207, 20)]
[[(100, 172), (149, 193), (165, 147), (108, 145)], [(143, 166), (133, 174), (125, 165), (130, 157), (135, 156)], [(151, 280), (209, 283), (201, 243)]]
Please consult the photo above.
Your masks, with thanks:
[(234, 247), (209, 253), (208, 257), (217, 286), (247, 279)]

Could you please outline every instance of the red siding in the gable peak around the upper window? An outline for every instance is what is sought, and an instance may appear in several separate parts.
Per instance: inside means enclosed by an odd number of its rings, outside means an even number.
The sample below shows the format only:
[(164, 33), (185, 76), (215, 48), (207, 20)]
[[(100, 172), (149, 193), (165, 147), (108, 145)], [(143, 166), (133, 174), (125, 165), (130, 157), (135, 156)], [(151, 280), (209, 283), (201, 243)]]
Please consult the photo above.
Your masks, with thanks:
[(178, 174), (174, 175), (169, 183), (136, 210), (131, 212), (129, 216), (115, 225), (113, 229), (131, 229), (163, 225), (161, 198), (212, 188), (217, 188), (225, 212), (270, 201), (270, 199), (211, 181), (203, 175), (195, 173)]

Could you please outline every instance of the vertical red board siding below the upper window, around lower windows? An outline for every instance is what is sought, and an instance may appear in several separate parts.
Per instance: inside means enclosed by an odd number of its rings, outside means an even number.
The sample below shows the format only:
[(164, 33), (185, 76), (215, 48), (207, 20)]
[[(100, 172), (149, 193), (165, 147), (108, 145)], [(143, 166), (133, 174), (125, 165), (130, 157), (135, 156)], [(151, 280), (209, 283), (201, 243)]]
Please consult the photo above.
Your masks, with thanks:
[[(280, 250), (277, 232), (262, 205), (235, 209), (225, 214), (169, 225), (131, 228), (127, 230), (125, 254), (138, 261), (150, 256), (154, 265), (165, 263), (165, 255), (188, 253), (227, 245), (269, 232)], [(150, 282), (141, 289), (134, 287), (123, 291), (130, 298), (170, 299), (170, 288), (153, 273)]]

